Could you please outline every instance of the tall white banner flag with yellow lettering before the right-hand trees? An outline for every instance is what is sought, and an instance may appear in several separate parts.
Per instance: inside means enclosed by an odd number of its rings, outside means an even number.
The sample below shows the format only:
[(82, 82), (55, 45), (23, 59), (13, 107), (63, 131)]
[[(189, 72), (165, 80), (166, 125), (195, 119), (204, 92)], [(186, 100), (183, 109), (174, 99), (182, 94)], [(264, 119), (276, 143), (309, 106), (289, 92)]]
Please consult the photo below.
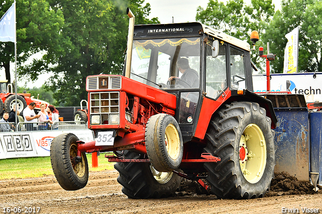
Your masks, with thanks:
[(286, 34), (288, 42), (284, 51), (283, 73), (296, 73), (298, 65), (298, 27)]

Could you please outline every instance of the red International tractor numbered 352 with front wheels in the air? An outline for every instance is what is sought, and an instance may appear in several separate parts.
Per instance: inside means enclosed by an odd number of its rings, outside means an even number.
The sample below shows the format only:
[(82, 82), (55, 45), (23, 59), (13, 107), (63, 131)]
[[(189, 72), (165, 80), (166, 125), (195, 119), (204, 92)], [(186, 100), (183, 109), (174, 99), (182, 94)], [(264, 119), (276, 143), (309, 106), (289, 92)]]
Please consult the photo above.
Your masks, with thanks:
[(85, 153), (113, 151), (106, 157), (129, 198), (173, 195), (182, 177), (220, 198), (263, 197), (277, 119), (272, 102), (253, 92), (250, 45), (200, 23), (130, 25), (127, 50), (123, 75), (87, 77), (96, 140), (52, 141), (62, 188), (86, 186)]

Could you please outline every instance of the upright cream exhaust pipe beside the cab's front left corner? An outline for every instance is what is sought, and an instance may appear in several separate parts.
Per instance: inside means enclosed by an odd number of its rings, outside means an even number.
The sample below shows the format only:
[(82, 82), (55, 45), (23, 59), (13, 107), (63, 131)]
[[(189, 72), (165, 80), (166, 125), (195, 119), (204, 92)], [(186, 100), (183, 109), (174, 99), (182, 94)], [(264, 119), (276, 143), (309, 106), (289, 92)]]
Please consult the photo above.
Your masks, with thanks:
[(130, 18), (130, 20), (129, 20), (129, 33), (128, 33), (128, 38), (127, 38), (125, 77), (130, 78), (135, 16), (129, 8), (126, 9), (126, 14)]

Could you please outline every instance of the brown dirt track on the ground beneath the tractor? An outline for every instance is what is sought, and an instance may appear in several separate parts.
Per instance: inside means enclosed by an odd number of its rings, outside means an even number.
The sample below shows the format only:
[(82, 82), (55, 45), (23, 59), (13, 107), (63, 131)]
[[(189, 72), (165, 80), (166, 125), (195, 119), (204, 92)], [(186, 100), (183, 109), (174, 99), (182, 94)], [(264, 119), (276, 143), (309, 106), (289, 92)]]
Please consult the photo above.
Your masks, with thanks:
[[(137, 200), (128, 199), (122, 193), (117, 176), (114, 170), (90, 172), (87, 186), (77, 191), (63, 190), (54, 176), (0, 180), (0, 212), (4, 213), (4, 207), (25, 210), (26, 206), (40, 207), (39, 213), (312, 213), (313, 208), (322, 213), (320, 191), (249, 200), (216, 199), (214, 195), (197, 194)], [(311, 212), (303, 212), (305, 207)], [(297, 208), (298, 212), (286, 208)]]

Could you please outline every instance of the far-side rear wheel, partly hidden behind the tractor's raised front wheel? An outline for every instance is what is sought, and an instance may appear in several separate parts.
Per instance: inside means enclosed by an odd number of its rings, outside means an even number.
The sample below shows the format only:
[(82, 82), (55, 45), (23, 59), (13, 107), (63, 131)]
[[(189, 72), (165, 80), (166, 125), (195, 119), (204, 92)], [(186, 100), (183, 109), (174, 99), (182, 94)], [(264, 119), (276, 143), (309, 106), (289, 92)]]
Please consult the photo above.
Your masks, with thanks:
[[(126, 159), (142, 159), (143, 155), (124, 151)], [(117, 181), (129, 198), (160, 198), (174, 196), (180, 190), (181, 177), (173, 172), (158, 172), (149, 163), (118, 162)]]

